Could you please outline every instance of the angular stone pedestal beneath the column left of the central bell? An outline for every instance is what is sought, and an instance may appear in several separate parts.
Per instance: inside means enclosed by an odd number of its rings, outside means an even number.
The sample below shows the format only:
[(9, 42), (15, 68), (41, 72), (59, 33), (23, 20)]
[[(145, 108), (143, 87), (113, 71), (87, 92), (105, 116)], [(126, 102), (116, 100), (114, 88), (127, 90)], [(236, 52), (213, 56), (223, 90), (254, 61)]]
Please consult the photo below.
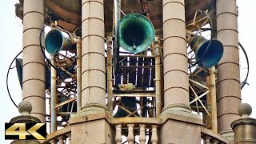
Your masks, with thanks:
[(70, 119), (71, 143), (114, 143), (114, 129), (108, 114), (90, 114)]

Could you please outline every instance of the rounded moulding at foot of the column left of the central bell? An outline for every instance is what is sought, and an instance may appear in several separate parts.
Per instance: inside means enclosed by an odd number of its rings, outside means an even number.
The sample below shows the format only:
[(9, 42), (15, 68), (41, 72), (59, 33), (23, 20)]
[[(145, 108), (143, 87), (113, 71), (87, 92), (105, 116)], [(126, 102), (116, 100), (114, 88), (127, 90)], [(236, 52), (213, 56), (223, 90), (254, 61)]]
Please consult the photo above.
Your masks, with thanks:
[(78, 113), (71, 114), (71, 118), (86, 116), (91, 114), (102, 114), (102, 113), (110, 114), (110, 111), (107, 109), (106, 106), (103, 106), (98, 103), (95, 103), (95, 104), (91, 103), (91, 104), (87, 104), (86, 106), (82, 106), (81, 110), (79, 110)]

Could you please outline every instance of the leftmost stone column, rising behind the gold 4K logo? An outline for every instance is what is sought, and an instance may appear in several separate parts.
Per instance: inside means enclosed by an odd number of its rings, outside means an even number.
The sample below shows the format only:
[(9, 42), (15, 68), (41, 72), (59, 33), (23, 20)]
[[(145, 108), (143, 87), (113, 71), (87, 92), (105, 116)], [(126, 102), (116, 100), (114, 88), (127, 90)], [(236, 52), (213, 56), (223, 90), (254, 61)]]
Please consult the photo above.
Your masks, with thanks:
[[(24, 0), (22, 98), (29, 101), (31, 115), (46, 122), (45, 62), (39, 36), (44, 26), (44, 1)], [(44, 33), (42, 33), (44, 46)]]

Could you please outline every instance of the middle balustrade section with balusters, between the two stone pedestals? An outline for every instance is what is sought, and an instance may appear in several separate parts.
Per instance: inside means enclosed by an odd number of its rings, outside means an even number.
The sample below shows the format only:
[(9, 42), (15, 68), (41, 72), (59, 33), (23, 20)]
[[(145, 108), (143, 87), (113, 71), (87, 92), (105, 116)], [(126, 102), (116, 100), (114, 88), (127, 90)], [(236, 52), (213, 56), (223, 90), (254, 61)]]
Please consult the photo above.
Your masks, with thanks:
[(122, 144), (122, 138), (126, 137), (128, 144), (134, 144), (135, 137), (138, 136), (138, 142), (146, 144), (148, 140), (152, 144), (158, 143), (158, 126), (161, 120), (158, 118), (113, 118), (112, 125), (115, 126), (115, 142)]

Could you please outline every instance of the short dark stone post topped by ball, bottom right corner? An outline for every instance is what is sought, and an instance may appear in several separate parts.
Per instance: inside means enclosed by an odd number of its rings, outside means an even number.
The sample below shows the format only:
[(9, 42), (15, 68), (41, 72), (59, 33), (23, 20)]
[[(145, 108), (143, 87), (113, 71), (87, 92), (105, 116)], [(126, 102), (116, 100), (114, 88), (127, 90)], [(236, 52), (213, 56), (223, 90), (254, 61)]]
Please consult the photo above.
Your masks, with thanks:
[(253, 144), (256, 143), (256, 119), (250, 118), (251, 106), (243, 103), (238, 113), (242, 116), (231, 123), (234, 130), (234, 143), (237, 144)]

